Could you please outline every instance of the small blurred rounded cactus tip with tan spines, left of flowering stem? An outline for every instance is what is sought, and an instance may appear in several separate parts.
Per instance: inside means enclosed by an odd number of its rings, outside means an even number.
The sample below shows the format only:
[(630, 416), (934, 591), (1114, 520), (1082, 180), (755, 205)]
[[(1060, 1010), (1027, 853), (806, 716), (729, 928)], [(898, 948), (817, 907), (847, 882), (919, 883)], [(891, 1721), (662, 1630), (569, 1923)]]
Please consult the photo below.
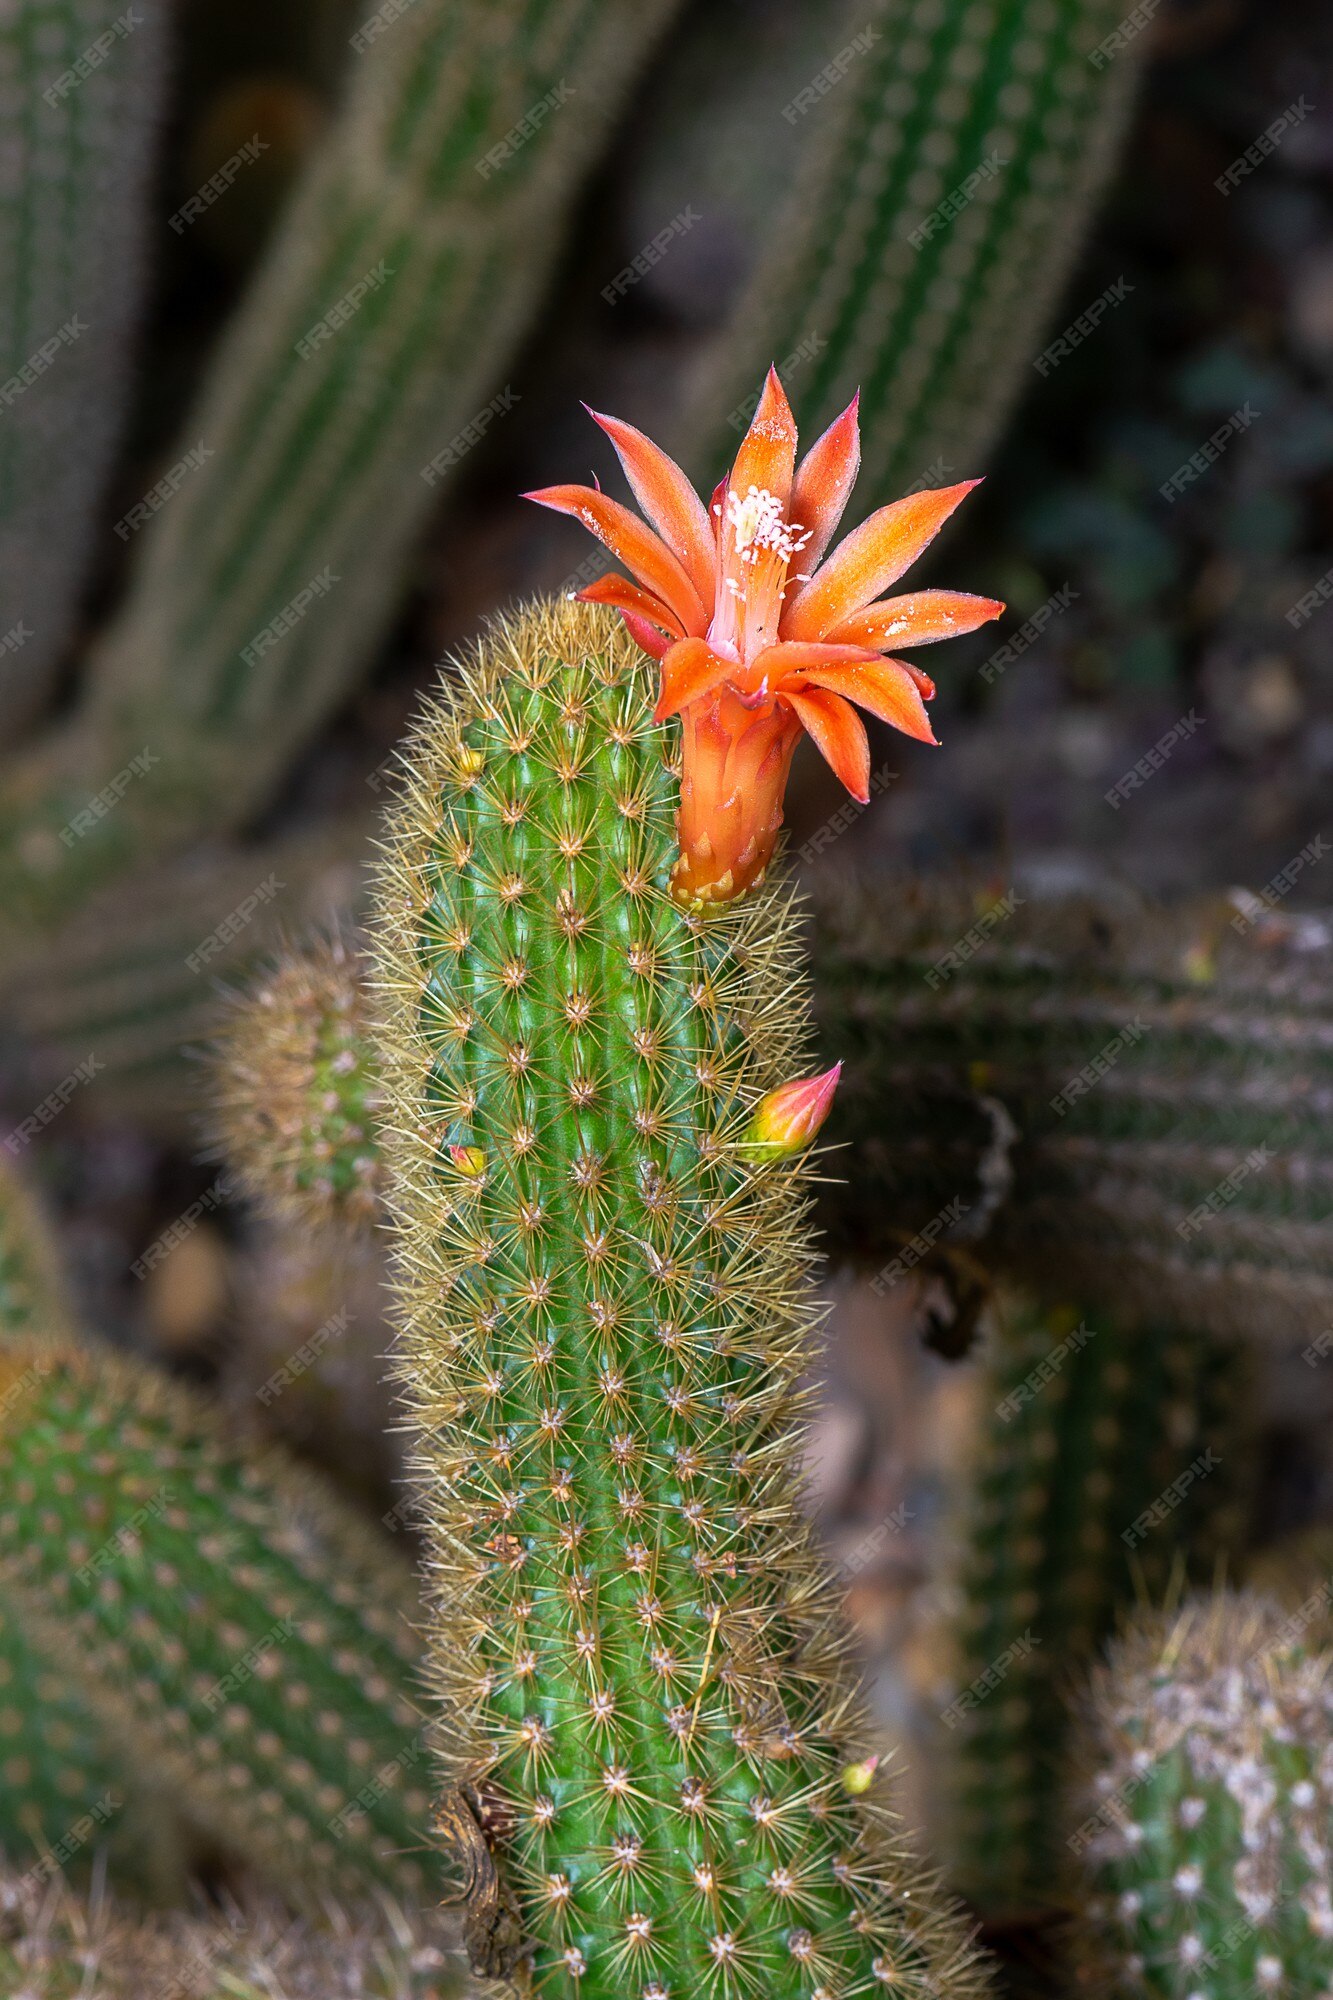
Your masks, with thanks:
[(354, 950), (288, 954), (218, 1048), (218, 1144), (246, 1194), (292, 1224), (360, 1228), (378, 1212), (378, 1086)]

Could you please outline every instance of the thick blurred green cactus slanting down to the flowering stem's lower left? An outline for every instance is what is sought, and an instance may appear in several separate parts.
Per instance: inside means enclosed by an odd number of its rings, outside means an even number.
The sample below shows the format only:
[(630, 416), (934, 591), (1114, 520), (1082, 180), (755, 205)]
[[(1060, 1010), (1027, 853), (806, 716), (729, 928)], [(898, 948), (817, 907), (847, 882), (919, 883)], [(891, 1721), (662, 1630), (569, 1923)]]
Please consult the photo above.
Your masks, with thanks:
[(430, 1888), (406, 1568), (128, 1360), (14, 1336), (0, 1378), (6, 1618), (130, 1774), (290, 1892)]

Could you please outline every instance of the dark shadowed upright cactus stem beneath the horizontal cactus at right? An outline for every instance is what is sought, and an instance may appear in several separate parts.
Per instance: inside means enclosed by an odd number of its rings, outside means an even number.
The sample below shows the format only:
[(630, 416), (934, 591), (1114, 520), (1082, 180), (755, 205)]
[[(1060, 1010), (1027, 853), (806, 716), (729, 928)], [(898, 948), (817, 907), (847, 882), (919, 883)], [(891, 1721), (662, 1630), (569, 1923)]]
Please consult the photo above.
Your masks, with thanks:
[(1073, 1676), (1125, 1606), (1185, 1572), (1211, 1578), (1243, 1540), (1247, 1394), (1235, 1350), (1175, 1330), (999, 1316), (961, 1504), (961, 1694), (945, 1710), (953, 1878), (989, 1914), (1067, 1888)]

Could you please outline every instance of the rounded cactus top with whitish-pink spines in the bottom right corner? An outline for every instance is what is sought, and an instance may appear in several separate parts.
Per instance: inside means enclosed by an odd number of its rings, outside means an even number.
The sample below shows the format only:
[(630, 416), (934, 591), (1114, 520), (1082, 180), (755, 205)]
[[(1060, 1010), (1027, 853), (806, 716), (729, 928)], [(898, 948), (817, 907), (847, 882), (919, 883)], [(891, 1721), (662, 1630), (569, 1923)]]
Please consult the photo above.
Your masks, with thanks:
[(1087, 1704), (1085, 1962), (1187, 2000), (1321, 1994), (1333, 1978), (1333, 1656), (1271, 1600), (1141, 1622)]

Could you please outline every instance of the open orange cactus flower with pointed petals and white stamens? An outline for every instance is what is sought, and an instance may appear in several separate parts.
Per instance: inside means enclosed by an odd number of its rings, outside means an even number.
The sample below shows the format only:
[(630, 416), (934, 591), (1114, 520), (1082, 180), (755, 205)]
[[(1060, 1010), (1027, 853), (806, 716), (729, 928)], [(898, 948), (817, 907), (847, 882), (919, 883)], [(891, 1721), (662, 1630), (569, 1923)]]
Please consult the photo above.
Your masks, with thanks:
[(660, 660), (656, 720), (681, 716), (681, 856), (675, 894), (727, 902), (763, 880), (803, 732), (863, 804), (871, 748), (853, 708), (935, 742), (935, 684), (891, 646), (973, 632), (995, 598), (957, 590), (881, 596), (939, 534), (977, 480), (879, 508), (835, 550), (861, 462), (857, 402), (797, 464), (797, 424), (777, 370), (713, 508), (673, 458), (632, 424), (588, 412), (610, 438), (652, 526), (592, 486), (524, 494), (572, 514), (630, 572), (588, 584)]

